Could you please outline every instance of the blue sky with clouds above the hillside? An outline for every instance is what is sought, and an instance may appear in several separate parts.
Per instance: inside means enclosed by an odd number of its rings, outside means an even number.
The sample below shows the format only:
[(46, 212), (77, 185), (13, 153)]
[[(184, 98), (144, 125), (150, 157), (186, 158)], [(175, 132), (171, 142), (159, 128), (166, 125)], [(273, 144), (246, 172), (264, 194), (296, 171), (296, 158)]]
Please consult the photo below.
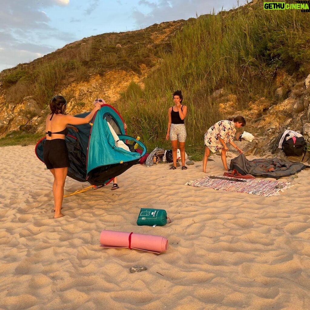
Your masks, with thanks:
[(226, 11), (238, 0), (0, 0), (0, 71), (82, 38)]

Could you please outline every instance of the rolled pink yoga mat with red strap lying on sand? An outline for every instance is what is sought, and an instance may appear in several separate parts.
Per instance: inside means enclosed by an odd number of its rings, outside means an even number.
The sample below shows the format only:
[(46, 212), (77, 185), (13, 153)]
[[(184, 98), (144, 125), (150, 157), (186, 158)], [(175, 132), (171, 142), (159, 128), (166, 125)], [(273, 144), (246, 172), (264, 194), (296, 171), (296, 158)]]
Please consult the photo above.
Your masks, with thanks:
[(166, 252), (168, 248), (168, 239), (165, 237), (113, 230), (103, 230), (100, 243), (104, 248), (129, 248), (157, 254)]

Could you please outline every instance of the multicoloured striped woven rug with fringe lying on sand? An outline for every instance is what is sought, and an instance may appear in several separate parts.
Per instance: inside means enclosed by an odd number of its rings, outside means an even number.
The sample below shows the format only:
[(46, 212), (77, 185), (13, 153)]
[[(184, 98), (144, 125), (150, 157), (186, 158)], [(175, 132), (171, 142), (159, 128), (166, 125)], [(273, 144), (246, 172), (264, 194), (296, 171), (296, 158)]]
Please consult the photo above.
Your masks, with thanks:
[[(236, 179), (225, 176), (225, 179)], [(243, 179), (246, 182), (236, 182), (223, 179), (210, 179), (208, 176), (199, 180), (189, 181), (185, 185), (221, 189), (227, 192), (248, 193), (259, 196), (279, 196), (279, 192), (290, 187), (289, 182), (270, 181), (266, 179)]]

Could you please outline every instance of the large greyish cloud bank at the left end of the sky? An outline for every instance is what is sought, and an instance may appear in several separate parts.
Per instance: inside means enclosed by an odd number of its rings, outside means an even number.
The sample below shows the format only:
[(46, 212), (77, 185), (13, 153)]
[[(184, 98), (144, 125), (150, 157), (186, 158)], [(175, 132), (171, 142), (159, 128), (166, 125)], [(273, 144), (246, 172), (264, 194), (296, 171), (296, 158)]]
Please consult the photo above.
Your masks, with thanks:
[(51, 26), (52, 20), (44, 11), (68, 4), (69, 0), (3, 1), (0, 11), (0, 70), (55, 51), (55, 47), (48, 46), (51, 38), (66, 42), (74, 40), (72, 34)]

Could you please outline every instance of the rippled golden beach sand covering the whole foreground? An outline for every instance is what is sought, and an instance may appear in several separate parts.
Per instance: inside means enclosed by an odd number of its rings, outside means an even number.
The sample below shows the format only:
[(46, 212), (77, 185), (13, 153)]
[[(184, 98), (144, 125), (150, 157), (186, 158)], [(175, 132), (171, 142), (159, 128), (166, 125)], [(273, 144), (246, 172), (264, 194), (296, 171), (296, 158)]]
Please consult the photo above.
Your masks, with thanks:
[[(223, 175), (210, 158), (207, 172)], [(201, 162), (135, 165), (116, 191), (64, 198), (65, 216), (53, 219), (53, 177), (34, 145), (2, 147), (0, 162), (0, 309), (310, 308), (309, 170), (262, 197), (184, 185), (206, 176)], [(88, 185), (67, 178), (65, 194)], [(172, 223), (137, 226), (144, 207), (165, 209)], [(168, 250), (105, 249), (104, 229), (164, 236)], [(147, 270), (130, 273), (134, 265)]]

